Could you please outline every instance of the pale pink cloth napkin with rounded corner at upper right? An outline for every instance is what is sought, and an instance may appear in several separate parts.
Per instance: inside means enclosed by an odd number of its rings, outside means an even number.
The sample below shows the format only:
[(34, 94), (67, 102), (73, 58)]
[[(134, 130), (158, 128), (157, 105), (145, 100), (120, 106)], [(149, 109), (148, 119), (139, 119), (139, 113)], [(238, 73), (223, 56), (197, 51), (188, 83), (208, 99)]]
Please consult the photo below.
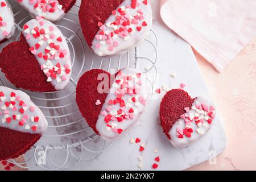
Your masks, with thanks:
[(256, 35), (255, 0), (162, 0), (164, 23), (221, 72)]

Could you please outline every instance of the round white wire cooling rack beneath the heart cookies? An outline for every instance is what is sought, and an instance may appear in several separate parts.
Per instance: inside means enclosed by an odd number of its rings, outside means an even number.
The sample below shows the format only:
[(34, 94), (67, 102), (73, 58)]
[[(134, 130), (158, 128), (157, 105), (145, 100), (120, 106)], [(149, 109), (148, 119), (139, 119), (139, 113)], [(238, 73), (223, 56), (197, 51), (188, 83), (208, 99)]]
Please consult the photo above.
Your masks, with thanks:
[[(68, 170), (75, 167), (81, 161), (94, 160), (109, 148), (112, 142), (106, 142), (96, 135), (82, 118), (75, 101), (76, 83), (82, 73), (93, 68), (105, 69), (114, 73), (122, 68), (140, 69), (147, 74), (150, 90), (153, 93), (153, 85), (156, 80), (158, 38), (154, 31), (140, 46), (122, 56), (98, 57), (88, 48), (78, 18), (80, 1), (59, 22), (57, 27), (67, 39), (72, 57), (72, 78), (64, 90), (56, 92), (38, 93), (26, 92), (31, 100), (43, 111), (48, 121), (48, 129), (42, 138), (26, 154), (23, 163), (17, 163), (10, 159), (11, 163), (20, 168), (37, 168), (45, 170)], [(31, 19), (31, 16), (17, 3), (11, 2), (15, 17), (15, 36), (6, 44), (19, 40), (21, 27)], [(141, 56), (143, 55), (143, 56)], [(141, 68), (139, 65), (147, 65)], [(0, 73), (0, 81), (4, 86), (15, 88)], [(118, 141), (117, 141), (118, 142)], [(29, 155), (29, 157), (28, 157)], [(38, 168), (37, 168), (38, 169)]]

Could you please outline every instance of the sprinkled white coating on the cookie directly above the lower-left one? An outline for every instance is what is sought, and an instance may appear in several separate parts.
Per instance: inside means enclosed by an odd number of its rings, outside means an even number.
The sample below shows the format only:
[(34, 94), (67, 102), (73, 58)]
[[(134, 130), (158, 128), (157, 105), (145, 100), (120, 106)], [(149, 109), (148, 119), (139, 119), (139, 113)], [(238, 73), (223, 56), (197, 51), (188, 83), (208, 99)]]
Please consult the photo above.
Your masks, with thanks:
[(47, 81), (56, 90), (64, 89), (71, 77), (71, 54), (59, 28), (48, 20), (36, 17), (24, 25), (22, 33)]

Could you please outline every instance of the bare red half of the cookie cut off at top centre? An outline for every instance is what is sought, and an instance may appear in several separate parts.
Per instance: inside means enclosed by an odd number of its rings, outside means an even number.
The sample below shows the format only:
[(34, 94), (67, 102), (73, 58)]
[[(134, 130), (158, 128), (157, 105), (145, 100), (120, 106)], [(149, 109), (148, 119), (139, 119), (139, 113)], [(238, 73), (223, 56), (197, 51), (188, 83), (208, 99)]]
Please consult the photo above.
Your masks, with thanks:
[(124, 0), (83, 0), (79, 10), (79, 20), (82, 33), (89, 47), (92, 46), (94, 36), (97, 34), (98, 22), (105, 23), (112, 15), (112, 11)]

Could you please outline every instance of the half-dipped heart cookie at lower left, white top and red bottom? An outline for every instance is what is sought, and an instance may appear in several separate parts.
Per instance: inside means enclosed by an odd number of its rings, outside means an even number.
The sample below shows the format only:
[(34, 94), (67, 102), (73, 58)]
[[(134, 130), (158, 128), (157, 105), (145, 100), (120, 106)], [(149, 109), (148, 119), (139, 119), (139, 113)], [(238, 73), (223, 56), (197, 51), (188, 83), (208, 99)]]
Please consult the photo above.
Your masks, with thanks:
[(0, 86), (0, 161), (30, 149), (47, 129), (42, 111), (20, 91)]

